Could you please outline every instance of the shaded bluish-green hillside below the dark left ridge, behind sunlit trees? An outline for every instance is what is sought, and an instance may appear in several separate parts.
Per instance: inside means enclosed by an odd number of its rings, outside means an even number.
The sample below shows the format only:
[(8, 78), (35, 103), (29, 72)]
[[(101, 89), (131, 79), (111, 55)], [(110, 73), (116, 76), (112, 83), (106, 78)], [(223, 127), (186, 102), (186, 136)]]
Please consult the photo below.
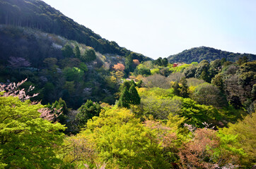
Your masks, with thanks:
[[(25, 27), (0, 25), (0, 82), (35, 86), (43, 104), (62, 97), (71, 108), (86, 99), (115, 103), (120, 75), (114, 65), (136, 58), (100, 54), (90, 46)], [(127, 65), (135, 66), (128, 62)], [(132, 67), (131, 67), (132, 68)], [(129, 73), (129, 70), (127, 70)], [(25, 87), (25, 88), (26, 88)]]

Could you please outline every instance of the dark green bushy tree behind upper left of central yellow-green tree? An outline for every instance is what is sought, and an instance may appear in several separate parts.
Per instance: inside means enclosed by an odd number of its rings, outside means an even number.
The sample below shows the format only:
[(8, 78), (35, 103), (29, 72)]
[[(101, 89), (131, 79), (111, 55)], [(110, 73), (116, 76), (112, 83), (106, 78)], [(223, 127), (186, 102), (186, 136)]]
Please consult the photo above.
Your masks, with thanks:
[(101, 111), (101, 106), (98, 103), (93, 103), (91, 100), (87, 100), (86, 104), (83, 104), (78, 108), (78, 114), (76, 115), (76, 120), (78, 120), (78, 125), (83, 127), (86, 125), (87, 121), (94, 116), (98, 116)]

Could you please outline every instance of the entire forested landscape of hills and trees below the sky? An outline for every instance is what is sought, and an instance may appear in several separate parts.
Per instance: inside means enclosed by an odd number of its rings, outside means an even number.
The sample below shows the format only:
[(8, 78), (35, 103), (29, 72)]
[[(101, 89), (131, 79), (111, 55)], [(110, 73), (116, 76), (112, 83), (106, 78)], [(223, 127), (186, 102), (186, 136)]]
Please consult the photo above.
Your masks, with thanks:
[(255, 55), (153, 61), (38, 0), (0, 16), (0, 168), (255, 167)]

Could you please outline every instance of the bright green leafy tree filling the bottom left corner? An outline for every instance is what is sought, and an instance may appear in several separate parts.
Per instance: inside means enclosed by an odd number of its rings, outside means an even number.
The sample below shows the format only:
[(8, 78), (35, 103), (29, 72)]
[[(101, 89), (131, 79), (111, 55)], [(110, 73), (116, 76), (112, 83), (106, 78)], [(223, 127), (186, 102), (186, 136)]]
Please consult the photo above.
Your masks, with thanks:
[(64, 125), (40, 118), (41, 104), (0, 96), (0, 165), (6, 168), (54, 168), (61, 161), (54, 146), (62, 144)]

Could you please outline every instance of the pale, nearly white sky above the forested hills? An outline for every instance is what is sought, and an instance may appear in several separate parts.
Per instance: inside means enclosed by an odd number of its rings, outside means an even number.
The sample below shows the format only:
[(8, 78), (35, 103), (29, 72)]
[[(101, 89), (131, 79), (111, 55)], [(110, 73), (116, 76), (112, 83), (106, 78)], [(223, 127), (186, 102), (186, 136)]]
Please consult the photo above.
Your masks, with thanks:
[(256, 54), (256, 0), (43, 0), (101, 37), (151, 58), (209, 46)]

